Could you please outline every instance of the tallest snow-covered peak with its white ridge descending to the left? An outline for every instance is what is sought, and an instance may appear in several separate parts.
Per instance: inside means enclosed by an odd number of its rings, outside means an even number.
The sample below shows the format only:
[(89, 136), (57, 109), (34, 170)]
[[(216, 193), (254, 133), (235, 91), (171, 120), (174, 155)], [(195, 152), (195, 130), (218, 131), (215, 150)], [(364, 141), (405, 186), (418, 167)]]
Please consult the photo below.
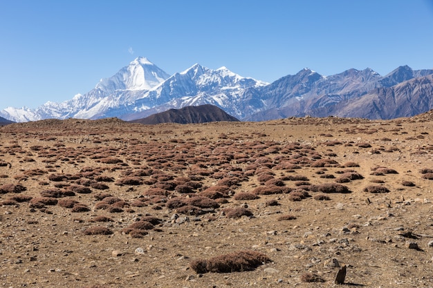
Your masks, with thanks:
[(0, 116), (15, 122), (57, 118), (93, 118), (108, 108), (131, 103), (142, 95), (142, 91), (158, 86), (169, 75), (145, 57), (138, 57), (120, 69), (116, 75), (101, 79), (88, 93), (77, 94), (66, 102), (47, 102), (33, 110), (30, 108), (8, 107)]

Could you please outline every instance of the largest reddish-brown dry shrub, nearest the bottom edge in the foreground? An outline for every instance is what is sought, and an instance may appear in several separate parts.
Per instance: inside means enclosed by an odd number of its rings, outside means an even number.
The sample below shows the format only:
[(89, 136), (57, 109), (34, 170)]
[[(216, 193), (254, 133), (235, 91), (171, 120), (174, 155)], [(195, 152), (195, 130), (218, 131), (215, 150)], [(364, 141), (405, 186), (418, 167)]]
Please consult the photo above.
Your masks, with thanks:
[(190, 267), (196, 273), (232, 273), (252, 271), (266, 262), (270, 262), (270, 258), (264, 253), (245, 250), (216, 256), (208, 260), (194, 260), (190, 263)]

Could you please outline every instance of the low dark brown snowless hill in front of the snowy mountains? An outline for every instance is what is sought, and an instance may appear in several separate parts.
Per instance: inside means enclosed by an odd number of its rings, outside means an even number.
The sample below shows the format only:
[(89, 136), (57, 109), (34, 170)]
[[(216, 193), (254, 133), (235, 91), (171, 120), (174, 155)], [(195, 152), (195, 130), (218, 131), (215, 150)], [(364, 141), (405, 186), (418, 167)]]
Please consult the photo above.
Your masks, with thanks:
[(200, 106), (186, 106), (181, 109), (169, 109), (131, 122), (141, 124), (191, 124), (221, 121), (239, 122), (239, 119), (228, 115), (221, 108), (205, 104)]

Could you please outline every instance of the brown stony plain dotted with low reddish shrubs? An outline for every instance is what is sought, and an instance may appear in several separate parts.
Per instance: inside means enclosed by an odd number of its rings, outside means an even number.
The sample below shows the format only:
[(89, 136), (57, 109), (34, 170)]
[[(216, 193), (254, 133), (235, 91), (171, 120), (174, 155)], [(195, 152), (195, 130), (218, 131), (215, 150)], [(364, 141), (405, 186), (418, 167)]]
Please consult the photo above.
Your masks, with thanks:
[[(433, 287), (432, 128), (431, 112), (3, 126), (0, 287), (338, 287), (342, 265), (347, 286)], [(266, 260), (193, 269), (247, 252)]]

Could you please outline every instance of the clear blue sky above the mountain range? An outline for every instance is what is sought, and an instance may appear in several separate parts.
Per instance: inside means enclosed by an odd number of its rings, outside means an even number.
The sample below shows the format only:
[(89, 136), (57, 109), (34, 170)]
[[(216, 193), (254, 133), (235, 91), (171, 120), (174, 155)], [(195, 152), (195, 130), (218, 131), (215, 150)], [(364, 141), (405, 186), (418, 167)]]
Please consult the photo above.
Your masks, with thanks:
[(0, 109), (71, 99), (138, 56), (268, 82), (433, 68), (433, 0), (0, 0)]

